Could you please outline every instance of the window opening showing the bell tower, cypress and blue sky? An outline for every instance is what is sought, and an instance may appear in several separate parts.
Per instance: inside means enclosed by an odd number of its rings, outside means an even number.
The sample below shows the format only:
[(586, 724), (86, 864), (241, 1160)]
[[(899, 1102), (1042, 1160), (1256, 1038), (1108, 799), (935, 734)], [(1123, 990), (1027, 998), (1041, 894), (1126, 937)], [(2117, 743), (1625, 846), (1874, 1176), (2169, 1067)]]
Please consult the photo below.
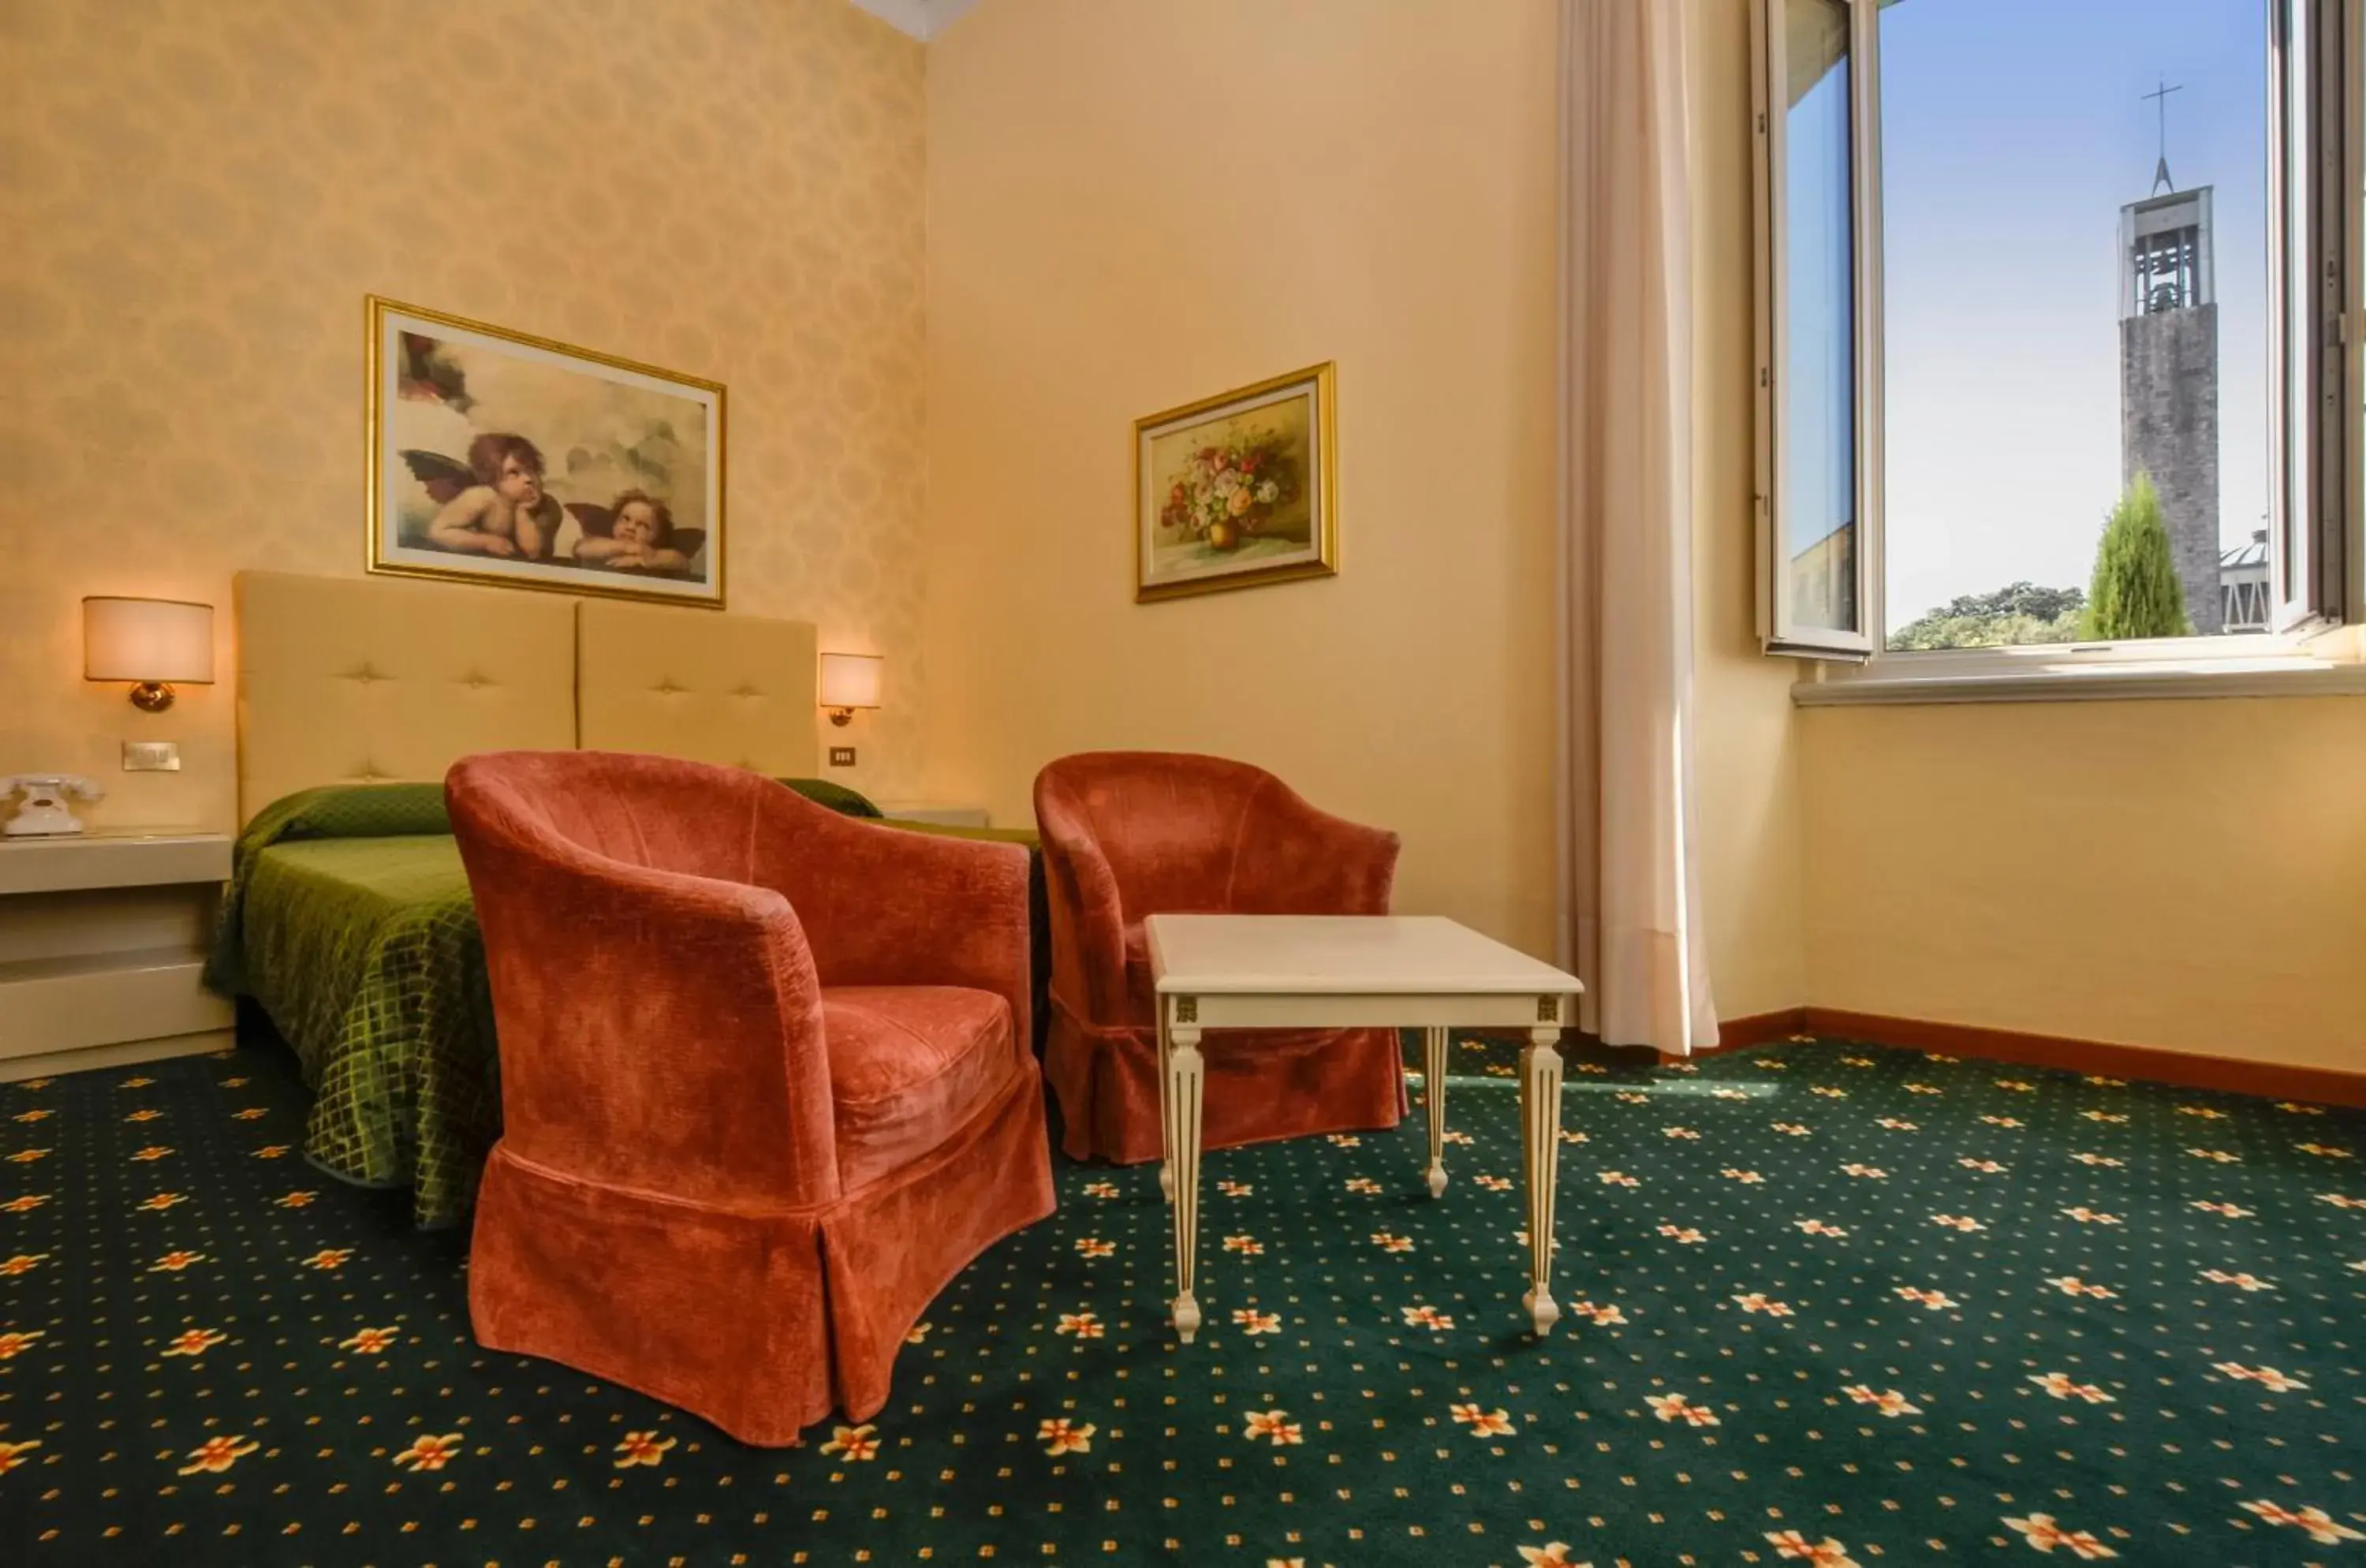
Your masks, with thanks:
[(2267, 7), (1881, 12), (1890, 648), (2264, 631)]

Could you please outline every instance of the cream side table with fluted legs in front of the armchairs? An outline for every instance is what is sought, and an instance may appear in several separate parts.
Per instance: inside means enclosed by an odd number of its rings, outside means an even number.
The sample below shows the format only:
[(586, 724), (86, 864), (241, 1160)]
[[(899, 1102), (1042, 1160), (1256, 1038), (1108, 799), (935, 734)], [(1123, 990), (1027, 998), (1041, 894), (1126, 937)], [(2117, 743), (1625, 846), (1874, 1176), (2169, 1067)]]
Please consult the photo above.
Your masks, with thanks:
[(1200, 1331), (1202, 1029), (1420, 1029), (1429, 1102), (1429, 1197), (1446, 1192), (1446, 1031), (1526, 1029), (1519, 1052), (1528, 1178), (1528, 1291), (1538, 1334), (1552, 1301), (1552, 1206), (1562, 1168), (1562, 1024), (1585, 986), (1550, 963), (1436, 915), (1150, 915), (1159, 996), (1159, 1185), (1176, 1220), (1176, 1336)]

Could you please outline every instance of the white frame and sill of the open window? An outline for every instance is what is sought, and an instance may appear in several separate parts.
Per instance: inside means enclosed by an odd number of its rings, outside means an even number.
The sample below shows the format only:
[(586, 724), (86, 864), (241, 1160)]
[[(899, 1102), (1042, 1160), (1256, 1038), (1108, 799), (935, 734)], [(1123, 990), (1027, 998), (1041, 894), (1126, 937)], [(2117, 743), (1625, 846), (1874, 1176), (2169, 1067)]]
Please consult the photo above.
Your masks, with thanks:
[[(1753, 0), (1753, 196), (1758, 286), (1758, 636), (1770, 655), (1819, 665), (1801, 702), (2028, 700), (2061, 695), (2191, 695), (2212, 676), (2224, 695), (2321, 688), (2361, 691), (2366, 674), (2333, 672), (2366, 655), (2366, 636), (2340, 631), (2366, 610), (2366, 0), (2262, 0), (2269, 9), (2271, 277), (2302, 272), (2314, 298), (2288, 284), (2269, 296), (2276, 397), (2271, 459), (2281, 473), (2269, 539), (2276, 622), (2269, 634), (2125, 643), (1888, 650), (1883, 603), (1883, 378), (1881, 378), (1881, 5), (1850, 12), (1850, 187), (1855, 246), (1857, 605), (1855, 634), (1801, 627), (1789, 615), (1782, 561), (1784, 376), (1784, 0)], [(2300, 90), (2295, 90), (2295, 80)], [(2297, 149), (2300, 156), (2293, 156)], [(2295, 225), (2290, 203), (2307, 225)], [(2300, 232), (2302, 255), (2286, 255)], [(2307, 404), (2307, 407), (2300, 407)], [(2326, 636), (2335, 631), (2335, 636)], [(2068, 691), (2077, 686), (2080, 691)], [(1924, 695), (1916, 695), (1924, 693)], [(2039, 698), (2042, 700), (2042, 698)]]

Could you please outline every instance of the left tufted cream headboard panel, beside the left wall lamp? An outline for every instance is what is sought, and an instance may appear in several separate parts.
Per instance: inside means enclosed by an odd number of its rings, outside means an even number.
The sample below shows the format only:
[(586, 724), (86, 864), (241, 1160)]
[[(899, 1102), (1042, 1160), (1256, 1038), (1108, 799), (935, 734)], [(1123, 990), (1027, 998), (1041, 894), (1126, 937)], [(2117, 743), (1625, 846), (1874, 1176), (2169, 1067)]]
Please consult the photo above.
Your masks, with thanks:
[(433, 780), (468, 752), (575, 745), (568, 598), (239, 572), (234, 601), (241, 823), (312, 785)]

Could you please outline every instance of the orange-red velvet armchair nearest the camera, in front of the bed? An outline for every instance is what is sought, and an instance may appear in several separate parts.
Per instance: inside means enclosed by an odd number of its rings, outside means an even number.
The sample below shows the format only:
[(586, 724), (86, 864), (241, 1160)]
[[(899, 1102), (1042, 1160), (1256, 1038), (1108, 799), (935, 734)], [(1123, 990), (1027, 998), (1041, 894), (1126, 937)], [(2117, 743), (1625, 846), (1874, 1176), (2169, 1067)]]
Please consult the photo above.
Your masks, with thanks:
[(875, 1414), (1053, 1209), (1027, 854), (665, 757), (466, 757), (445, 797), (502, 1043), (478, 1341), (745, 1443)]

